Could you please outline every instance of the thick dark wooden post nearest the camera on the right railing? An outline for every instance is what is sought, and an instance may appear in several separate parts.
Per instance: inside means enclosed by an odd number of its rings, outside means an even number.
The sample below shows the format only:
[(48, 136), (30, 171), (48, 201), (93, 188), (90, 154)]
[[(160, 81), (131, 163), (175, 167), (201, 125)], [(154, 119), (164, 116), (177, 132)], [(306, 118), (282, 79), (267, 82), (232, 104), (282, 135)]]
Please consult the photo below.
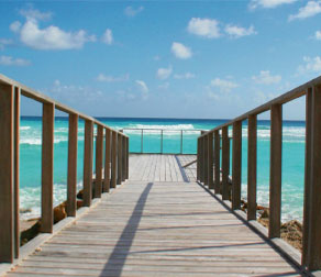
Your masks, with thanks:
[[(309, 95), (309, 93), (308, 93)], [(309, 98), (309, 96), (308, 96)], [(309, 102), (311, 100), (311, 102)], [(308, 115), (307, 122), (308, 131), (310, 132), (307, 137), (307, 162), (309, 167), (307, 168), (306, 184), (308, 188), (305, 190), (305, 215), (308, 214), (307, 219), (303, 219), (303, 242), (307, 247), (303, 251), (305, 264), (309, 270), (321, 269), (321, 86), (312, 88), (312, 99), (308, 99), (310, 104), (310, 115)], [(309, 204), (307, 203), (309, 201)], [(307, 245), (308, 242), (308, 245)]]

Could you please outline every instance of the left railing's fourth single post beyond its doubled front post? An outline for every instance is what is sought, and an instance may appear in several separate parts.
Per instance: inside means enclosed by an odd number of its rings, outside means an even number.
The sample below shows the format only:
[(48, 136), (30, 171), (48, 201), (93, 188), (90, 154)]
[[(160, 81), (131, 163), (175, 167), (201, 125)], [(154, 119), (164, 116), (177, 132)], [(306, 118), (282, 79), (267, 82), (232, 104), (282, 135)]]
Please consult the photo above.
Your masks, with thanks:
[(102, 191), (102, 156), (103, 156), (102, 152), (103, 152), (103, 128), (102, 125), (97, 125), (95, 198), (100, 198)]

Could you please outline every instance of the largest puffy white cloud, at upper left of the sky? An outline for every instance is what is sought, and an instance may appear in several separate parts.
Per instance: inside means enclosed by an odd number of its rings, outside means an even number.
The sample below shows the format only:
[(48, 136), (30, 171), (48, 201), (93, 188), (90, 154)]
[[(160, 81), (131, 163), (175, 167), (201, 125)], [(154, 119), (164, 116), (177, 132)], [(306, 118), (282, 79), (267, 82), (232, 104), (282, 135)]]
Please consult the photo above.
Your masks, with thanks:
[(96, 41), (84, 30), (71, 33), (54, 25), (40, 29), (36, 20), (27, 20), (19, 31), (21, 42), (34, 49), (74, 49)]

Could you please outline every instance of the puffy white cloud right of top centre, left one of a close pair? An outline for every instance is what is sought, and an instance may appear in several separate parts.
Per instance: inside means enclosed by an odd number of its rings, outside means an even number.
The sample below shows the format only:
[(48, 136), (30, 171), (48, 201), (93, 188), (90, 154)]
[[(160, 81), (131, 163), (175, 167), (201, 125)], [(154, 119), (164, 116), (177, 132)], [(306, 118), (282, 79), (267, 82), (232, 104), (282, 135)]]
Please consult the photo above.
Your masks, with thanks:
[(208, 38), (217, 38), (221, 35), (219, 22), (214, 19), (192, 18), (188, 23), (187, 30), (191, 34)]

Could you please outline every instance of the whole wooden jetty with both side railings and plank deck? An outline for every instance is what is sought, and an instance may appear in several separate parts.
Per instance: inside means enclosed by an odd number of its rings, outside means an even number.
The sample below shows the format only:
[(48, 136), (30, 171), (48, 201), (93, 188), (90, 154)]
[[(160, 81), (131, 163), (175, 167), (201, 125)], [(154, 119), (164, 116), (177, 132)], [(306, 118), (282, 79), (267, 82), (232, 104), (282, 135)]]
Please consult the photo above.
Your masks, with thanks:
[[(41, 234), (22, 247), (19, 237), (21, 96), (43, 103)], [(281, 106), (299, 97), (307, 98), (302, 255), (279, 239)], [(130, 155), (129, 137), (123, 133), (0, 76), (0, 274), (318, 276), (321, 268), (320, 107), (321, 77), (203, 133), (198, 138), (197, 155)], [(53, 224), (56, 109), (69, 115), (68, 217)], [(268, 110), (272, 164), (270, 221), (266, 230), (256, 222), (256, 118)], [(76, 210), (79, 118), (85, 120), (84, 207)], [(248, 121), (247, 213), (240, 210), (242, 122), (245, 120)], [(229, 128), (233, 132), (232, 145)], [(191, 163), (196, 158), (197, 163)]]

